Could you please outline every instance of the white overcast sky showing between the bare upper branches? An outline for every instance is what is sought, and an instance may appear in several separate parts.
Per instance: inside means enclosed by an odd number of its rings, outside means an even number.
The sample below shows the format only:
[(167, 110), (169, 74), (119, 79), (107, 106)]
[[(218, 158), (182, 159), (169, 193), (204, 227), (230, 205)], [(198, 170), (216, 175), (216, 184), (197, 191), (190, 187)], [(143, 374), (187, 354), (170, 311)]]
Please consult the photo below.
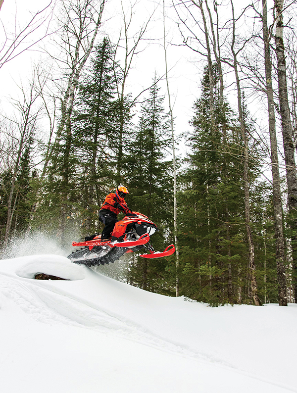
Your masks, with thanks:
[[(240, 11), (247, 3), (246, 0), (234, 2), (235, 5), (238, 6), (237, 11)], [(269, 2), (271, 4), (268, 5), (272, 5), (272, 0), (269, 0)], [(0, 18), (7, 31), (11, 31), (15, 21), (16, 25), (24, 25), (30, 17), (30, 12), (34, 13), (42, 9), (48, 3), (49, 0), (4, 0), (0, 11)], [(162, 0), (160, 0), (160, 3), (162, 4)], [(177, 19), (176, 13), (170, 6), (171, 0), (165, 0), (165, 3), (166, 14), (168, 15), (166, 19), (166, 41), (173, 44), (181, 44), (180, 33), (175, 23)], [(129, 0), (123, 0), (123, 4), (126, 12), (129, 12), (131, 2)], [(148, 19), (148, 15), (152, 13), (154, 8), (156, 8), (156, 11), (148, 27), (146, 34), (147, 41), (141, 44), (140, 48), (142, 51), (135, 57), (132, 65), (133, 68), (128, 76), (126, 93), (131, 92), (132, 96), (136, 96), (140, 91), (150, 85), (155, 71), (158, 75), (163, 75), (165, 71), (164, 51), (162, 48), (162, 5), (157, 5), (157, 2), (153, 0), (140, 0), (134, 8), (135, 16), (133, 18), (131, 36), (139, 31), (140, 26), (145, 23)], [(224, 7), (221, 11), (223, 12), (223, 10)], [(230, 10), (228, 10), (227, 13), (226, 8), (225, 13), (227, 17), (229, 11)], [(120, 0), (106, 1), (102, 20), (104, 23), (100, 28), (98, 41), (100, 41), (104, 35), (108, 34), (110, 40), (116, 42), (122, 26)], [(247, 18), (245, 22), (247, 22)], [(244, 29), (247, 29), (247, 24), (242, 24), (240, 32), (242, 33)], [(196, 31), (198, 31), (197, 26)], [(41, 34), (42, 32), (40, 31), (39, 35)], [(2, 37), (0, 37), (0, 41), (2, 41), (3, 31), (1, 28), (0, 35), (2, 35)], [(31, 37), (33, 38), (33, 36), (30, 36), (30, 38)], [(172, 102), (174, 102), (174, 116), (176, 118), (176, 134), (180, 134), (191, 129), (189, 120), (193, 116), (192, 106), (194, 101), (200, 95), (200, 79), (206, 59), (198, 53), (180, 46), (169, 45), (167, 50), (168, 68), (170, 70), (170, 90)], [(35, 46), (34, 49), (22, 53), (0, 69), (0, 107), (6, 114), (11, 113), (11, 98), (17, 98), (19, 94), (17, 86), (21, 84), (26, 85), (32, 75), (32, 65), (40, 61), (40, 59), (47, 61), (46, 55), (38, 46)], [(230, 77), (227, 76), (226, 78)], [(160, 86), (162, 89), (161, 93), (165, 95), (165, 81), (161, 82)], [(142, 98), (145, 97), (146, 95)], [(232, 89), (229, 89), (228, 100), (236, 107), (237, 95)], [(264, 129), (267, 127), (266, 115), (264, 115), (264, 120), (262, 120), (263, 116), (259, 115), (258, 110), (258, 97), (254, 96), (250, 100), (251, 106), (249, 109), (251, 112), (255, 113), (261, 129)], [(166, 98), (165, 103), (168, 109), (167, 102)], [(181, 149), (184, 150), (185, 148), (184, 144), (182, 144)], [(184, 151), (182, 151), (182, 153), (184, 153)]]

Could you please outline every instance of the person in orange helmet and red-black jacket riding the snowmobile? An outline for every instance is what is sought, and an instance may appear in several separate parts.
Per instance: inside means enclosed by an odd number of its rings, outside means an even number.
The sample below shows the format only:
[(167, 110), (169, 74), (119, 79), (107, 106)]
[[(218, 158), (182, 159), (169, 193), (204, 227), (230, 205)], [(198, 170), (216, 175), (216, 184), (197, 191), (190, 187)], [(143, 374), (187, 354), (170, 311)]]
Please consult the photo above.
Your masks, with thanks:
[(105, 225), (101, 233), (101, 242), (107, 242), (110, 239), (115, 223), (119, 220), (117, 215), (120, 211), (126, 214), (134, 215), (125, 202), (125, 196), (129, 194), (126, 187), (120, 185), (115, 193), (108, 194), (99, 210), (99, 220)]

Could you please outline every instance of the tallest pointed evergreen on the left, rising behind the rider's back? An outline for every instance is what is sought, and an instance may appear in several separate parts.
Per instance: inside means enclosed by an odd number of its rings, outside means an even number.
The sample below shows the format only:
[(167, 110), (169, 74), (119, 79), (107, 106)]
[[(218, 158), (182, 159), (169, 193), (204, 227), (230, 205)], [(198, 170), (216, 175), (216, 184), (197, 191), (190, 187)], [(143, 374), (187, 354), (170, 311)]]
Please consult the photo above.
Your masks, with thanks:
[(91, 66), (79, 85), (73, 117), (74, 144), (82, 219), (86, 230), (95, 231), (98, 210), (112, 188), (112, 148), (116, 135), (114, 49), (107, 38), (97, 46)]

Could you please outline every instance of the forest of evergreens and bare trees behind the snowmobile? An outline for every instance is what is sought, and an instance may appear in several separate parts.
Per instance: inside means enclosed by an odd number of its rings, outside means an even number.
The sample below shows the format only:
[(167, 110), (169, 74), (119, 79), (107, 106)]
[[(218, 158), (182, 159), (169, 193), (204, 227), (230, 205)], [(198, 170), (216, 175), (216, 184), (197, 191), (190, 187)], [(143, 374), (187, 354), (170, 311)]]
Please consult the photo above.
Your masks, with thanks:
[[(36, 231), (61, 246), (101, 232), (123, 184), (159, 228), (156, 249), (176, 246), (129, 254), (124, 281), (211, 306), (297, 302), (296, 0), (49, 0), (14, 23), (2, 21), (1, 80), (41, 54), (0, 110), (1, 257)], [(186, 129), (179, 56), (198, 86)]]

